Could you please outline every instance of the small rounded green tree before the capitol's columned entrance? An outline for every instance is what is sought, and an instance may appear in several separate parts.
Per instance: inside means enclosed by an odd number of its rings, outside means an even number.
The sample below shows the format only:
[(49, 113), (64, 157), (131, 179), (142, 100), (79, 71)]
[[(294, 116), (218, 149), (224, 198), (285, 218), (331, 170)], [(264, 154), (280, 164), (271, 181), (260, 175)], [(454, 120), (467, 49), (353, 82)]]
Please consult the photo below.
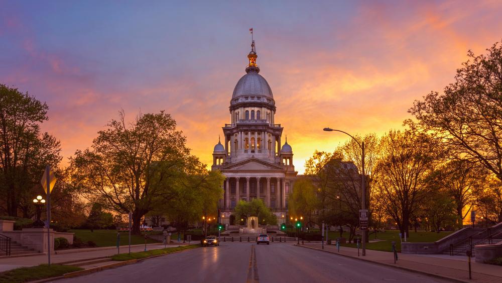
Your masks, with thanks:
[(244, 219), (256, 216), (262, 225), (277, 225), (277, 217), (263, 203), (261, 199), (253, 199), (250, 202), (239, 201), (235, 206), (233, 215), (236, 219)]

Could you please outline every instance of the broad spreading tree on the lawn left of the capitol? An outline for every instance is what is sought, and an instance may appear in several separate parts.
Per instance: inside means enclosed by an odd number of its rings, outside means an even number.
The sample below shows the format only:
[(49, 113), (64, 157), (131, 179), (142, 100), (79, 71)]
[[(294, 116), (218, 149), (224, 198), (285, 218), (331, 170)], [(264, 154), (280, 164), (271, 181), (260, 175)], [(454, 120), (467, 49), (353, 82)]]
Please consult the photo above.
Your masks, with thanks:
[(92, 203), (120, 214), (133, 214), (133, 233), (156, 200), (175, 196), (173, 183), (191, 165), (186, 138), (169, 114), (139, 114), (126, 123), (124, 113), (98, 132), (92, 149), (70, 159), (72, 180)]

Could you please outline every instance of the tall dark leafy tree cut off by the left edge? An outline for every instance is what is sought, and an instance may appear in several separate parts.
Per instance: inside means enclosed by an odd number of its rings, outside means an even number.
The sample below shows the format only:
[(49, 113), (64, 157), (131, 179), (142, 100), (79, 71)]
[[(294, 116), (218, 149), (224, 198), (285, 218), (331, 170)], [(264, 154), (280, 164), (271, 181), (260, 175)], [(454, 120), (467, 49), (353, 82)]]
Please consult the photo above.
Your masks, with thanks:
[(0, 208), (10, 216), (31, 217), (32, 200), (47, 164), (61, 160), (60, 143), (41, 133), (48, 106), (28, 93), (0, 84)]

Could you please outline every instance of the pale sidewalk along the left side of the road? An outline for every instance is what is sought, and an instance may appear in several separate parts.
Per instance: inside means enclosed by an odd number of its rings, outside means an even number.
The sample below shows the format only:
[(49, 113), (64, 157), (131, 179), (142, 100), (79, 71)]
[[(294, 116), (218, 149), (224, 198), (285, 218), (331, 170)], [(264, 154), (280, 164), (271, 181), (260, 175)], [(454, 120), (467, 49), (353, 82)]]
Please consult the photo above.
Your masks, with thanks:
[[(184, 243), (174, 242), (167, 247), (177, 247), (185, 245)], [(186, 243), (188, 245), (188, 243)], [(64, 253), (51, 254), (51, 263), (65, 263), (68, 261), (85, 261), (96, 258), (105, 258), (117, 254), (117, 248), (112, 249), (106, 248), (92, 248), (84, 249), (85, 251), (79, 251), (79, 249), (62, 250)], [(147, 244), (147, 250), (153, 249), (163, 249), (164, 244)], [(132, 245), (131, 252), (144, 251), (145, 245)], [(58, 252), (58, 251), (57, 251)], [(128, 253), (129, 246), (120, 246), (120, 253)], [(24, 266), (35, 266), (42, 263), (47, 263), (47, 254), (43, 255), (33, 255), (33, 256), (23, 256), (23, 257), (11, 257), (0, 259), (0, 272), (10, 270), (13, 268), (24, 267)], [(103, 263), (105, 264), (105, 263)], [(84, 266), (83, 266), (84, 267)], [(84, 267), (85, 268), (85, 267)]]

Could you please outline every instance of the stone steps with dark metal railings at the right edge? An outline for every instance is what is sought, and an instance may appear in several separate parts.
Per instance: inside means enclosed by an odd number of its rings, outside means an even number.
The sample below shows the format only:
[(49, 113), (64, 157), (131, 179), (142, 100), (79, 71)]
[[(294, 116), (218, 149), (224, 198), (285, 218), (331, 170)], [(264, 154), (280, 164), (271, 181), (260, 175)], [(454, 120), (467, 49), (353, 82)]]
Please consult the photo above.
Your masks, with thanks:
[(502, 225), (497, 224), (493, 227), (486, 228), (475, 235), (469, 236), (467, 239), (457, 243), (450, 244), (450, 255), (466, 255), (468, 249), (472, 250), (472, 256), (475, 256), (474, 246), (496, 244), (502, 241)]

